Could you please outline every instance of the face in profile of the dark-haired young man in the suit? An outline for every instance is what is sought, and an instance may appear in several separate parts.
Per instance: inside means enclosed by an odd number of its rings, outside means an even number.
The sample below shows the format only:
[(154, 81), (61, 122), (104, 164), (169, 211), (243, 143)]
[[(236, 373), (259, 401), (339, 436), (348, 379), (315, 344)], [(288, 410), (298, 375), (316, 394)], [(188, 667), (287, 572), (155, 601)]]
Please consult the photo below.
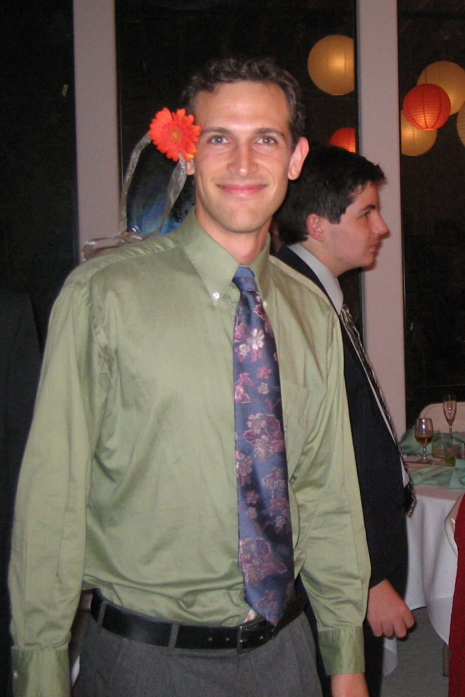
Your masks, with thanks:
[(347, 206), (339, 223), (325, 217), (307, 218), (309, 237), (304, 247), (340, 276), (351, 268), (370, 266), (376, 257), (381, 237), (388, 228), (379, 213), (378, 188), (367, 183), (365, 188)]

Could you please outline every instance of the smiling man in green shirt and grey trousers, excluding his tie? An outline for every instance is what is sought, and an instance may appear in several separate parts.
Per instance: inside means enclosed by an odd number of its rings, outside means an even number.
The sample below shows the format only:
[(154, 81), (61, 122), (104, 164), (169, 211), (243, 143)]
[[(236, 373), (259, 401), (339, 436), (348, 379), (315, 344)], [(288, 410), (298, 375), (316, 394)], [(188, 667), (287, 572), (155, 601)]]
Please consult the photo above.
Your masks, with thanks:
[[(75, 270), (52, 312), (10, 566), (15, 696), (69, 694), (83, 583), (100, 591), (79, 695), (320, 694), (302, 615), (284, 611), (276, 631), (246, 623), (232, 360), (241, 265), (280, 363), (295, 573), (334, 696), (366, 697), (369, 562), (340, 330), (323, 293), (268, 255), (271, 216), (308, 149), (298, 86), (269, 61), (227, 60), (193, 78), (187, 98), (201, 128), (188, 164), (195, 212)], [(244, 651), (244, 636), (257, 648)]]

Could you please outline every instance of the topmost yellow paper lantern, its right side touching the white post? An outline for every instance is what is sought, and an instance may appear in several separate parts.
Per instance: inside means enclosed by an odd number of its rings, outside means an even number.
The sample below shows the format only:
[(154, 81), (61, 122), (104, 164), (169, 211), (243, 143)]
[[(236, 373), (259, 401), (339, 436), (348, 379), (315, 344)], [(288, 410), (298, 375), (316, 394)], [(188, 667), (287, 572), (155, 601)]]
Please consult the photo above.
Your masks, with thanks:
[(353, 90), (353, 39), (331, 34), (320, 39), (310, 51), (307, 68), (314, 84), (333, 95)]

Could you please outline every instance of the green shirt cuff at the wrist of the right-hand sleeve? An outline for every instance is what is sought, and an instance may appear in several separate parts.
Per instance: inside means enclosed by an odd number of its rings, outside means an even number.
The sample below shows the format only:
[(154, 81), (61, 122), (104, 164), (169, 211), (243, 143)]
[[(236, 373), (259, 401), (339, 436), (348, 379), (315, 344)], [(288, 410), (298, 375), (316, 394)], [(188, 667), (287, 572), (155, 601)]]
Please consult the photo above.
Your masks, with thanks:
[(318, 641), (327, 675), (365, 673), (362, 627), (319, 631)]

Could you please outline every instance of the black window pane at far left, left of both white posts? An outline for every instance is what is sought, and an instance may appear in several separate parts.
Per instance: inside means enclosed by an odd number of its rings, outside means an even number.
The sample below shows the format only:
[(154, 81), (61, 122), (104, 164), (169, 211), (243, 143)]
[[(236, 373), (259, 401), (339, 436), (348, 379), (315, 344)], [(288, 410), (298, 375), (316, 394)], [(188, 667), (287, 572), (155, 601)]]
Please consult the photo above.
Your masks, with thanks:
[(0, 283), (29, 293), (43, 342), (77, 261), (71, 0), (8, 3), (0, 66)]

